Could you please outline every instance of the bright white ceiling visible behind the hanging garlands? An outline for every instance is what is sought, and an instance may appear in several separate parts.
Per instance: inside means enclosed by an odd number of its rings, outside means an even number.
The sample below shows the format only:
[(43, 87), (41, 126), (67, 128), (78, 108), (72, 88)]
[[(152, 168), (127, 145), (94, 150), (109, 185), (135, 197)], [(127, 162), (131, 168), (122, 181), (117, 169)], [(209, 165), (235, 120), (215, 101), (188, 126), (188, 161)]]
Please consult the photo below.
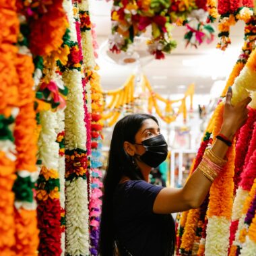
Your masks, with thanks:
[[(98, 64), (104, 90), (122, 86), (127, 77), (136, 70), (136, 65), (117, 65), (106, 57), (112, 3), (113, 1), (90, 0), (90, 13), (92, 21), (96, 24), (100, 45)], [(185, 28), (174, 28), (173, 37), (178, 42), (177, 49), (166, 59), (153, 60), (145, 65), (143, 73), (148, 76), (154, 90), (161, 94), (181, 94), (191, 82), (195, 82), (196, 94), (208, 94), (216, 79), (226, 79), (240, 53), (243, 44), (243, 23), (232, 28), (232, 44), (224, 53), (216, 49), (218, 38), (211, 44), (199, 46), (199, 49), (185, 49), (184, 34)]]

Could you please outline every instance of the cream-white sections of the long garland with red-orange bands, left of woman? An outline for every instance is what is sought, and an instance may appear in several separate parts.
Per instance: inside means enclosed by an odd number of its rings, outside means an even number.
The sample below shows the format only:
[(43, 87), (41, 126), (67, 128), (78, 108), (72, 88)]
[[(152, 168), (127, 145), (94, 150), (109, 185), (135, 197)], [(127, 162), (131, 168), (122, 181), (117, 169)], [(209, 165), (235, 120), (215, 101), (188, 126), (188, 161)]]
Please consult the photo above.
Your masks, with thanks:
[[(71, 41), (77, 43), (77, 32), (71, 0), (63, 3), (69, 19)], [(77, 69), (63, 72), (63, 82), (69, 93), (65, 108), (65, 149), (86, 151), (86, 125), (84, 123), (84, 88), (82, 73)], [(87, 181), (82, 178), (65, 183), (66, 251), (68, 255), (89, 255), (89, 213)]]

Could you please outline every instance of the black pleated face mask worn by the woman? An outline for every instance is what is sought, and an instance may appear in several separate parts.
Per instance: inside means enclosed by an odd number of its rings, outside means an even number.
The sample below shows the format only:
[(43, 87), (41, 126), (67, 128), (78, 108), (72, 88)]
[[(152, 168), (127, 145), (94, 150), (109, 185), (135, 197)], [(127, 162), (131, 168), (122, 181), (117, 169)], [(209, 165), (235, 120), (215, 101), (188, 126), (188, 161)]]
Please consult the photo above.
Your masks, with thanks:
[(148, 166), (156, 168), (166, 160), (168, 146), (162, 134), (143, 140), (141, 144), (137, 145), (142, 145), (146, 149), (146, 152), (140, 156), (140, 160)]

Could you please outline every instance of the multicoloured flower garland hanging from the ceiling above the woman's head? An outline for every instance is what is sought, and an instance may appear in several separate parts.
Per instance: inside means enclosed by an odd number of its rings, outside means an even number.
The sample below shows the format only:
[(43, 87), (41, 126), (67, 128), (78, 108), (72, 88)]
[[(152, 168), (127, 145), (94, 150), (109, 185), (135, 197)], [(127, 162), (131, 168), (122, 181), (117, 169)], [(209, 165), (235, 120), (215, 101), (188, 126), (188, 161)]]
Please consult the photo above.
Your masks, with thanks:
[(156, 59), (163, 59), (177, 46), (172, 40), (168, 9), (170, 1), (114, 1), (111, 12), (112, 36), (109, 38), (110, 51), (127, 51), (135, 36), (141, 35), (151, 25), (152, 38), (147, 42), (148, 51)]

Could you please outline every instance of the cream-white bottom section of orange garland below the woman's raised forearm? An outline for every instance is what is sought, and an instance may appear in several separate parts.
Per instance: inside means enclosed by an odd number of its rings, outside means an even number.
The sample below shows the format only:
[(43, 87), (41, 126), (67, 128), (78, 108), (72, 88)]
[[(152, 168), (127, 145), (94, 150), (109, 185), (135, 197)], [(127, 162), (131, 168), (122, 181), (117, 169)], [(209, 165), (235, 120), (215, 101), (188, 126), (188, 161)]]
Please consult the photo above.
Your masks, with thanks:
[[(230, 221), (222, 216), (212, 216), (208, 219), (205, 242), (205, 255), (228, 255)], [(216, 236), (218, 234), (218, 236)], [(214, 241), (214, 243), (212, 243)]]

